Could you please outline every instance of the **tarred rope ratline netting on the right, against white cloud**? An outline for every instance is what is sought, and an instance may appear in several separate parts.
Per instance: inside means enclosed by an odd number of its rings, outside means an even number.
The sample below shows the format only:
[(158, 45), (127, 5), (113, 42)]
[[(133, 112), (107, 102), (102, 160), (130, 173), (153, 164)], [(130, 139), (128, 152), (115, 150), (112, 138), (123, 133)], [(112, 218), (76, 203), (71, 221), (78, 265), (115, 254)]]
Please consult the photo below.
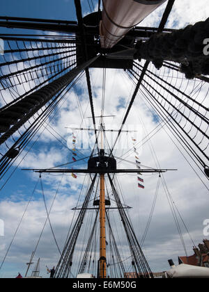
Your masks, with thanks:
[[(208, 166), (208, 83), (200, 79), (185, 79), (174, 63), (164, 63), (160, 70), (150, 64), (141, 83), (139, 95), (151, 111), (167, 123), (173, 136), (201, 170)], [(177, 67), (177, 66), (176, 66)], [(142, 72), (141, 63), (134, 62), (127, 74), (135, 83)]]

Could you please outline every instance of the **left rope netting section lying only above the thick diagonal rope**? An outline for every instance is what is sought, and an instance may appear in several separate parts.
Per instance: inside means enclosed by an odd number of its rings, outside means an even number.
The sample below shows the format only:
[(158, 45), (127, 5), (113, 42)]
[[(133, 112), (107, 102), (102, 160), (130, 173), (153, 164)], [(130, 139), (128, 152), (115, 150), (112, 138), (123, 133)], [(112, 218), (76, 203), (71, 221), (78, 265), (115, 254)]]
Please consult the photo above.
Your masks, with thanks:
[(4, 48), (1, 111), (76, 65), (75, 44), (68, 41), (4, 38)]

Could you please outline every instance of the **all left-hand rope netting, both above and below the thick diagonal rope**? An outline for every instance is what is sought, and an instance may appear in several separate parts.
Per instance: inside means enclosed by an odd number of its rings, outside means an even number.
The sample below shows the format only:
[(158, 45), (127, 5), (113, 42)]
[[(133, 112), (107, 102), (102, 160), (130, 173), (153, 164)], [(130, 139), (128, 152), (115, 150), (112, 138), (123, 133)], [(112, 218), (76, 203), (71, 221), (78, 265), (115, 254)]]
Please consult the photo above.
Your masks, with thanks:
[[(53, 85), (54, 81), (59, 81), (77, 65), (73, 39), (6, 37), (3, 40), (4, 54), (0, 58), (1, 178), (26, 145), (33, 142), (36, 133), (74, 84), (72, 80), (60, 82), (58, 88)], [(46, 93), (38, 93), (42, 88), (46, 88)]]

